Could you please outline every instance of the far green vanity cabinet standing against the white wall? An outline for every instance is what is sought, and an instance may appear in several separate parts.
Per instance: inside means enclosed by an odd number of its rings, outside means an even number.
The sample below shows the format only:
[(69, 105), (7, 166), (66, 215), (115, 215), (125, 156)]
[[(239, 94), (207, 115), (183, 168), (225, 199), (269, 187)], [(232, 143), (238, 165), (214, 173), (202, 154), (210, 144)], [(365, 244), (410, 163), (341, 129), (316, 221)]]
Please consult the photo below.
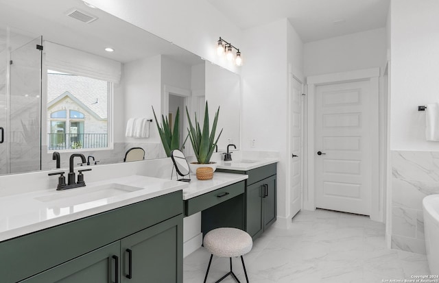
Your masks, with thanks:
[(219, 172), (246, 174), (245, 230), (257, 238), (276, 221), (276, 163), (248, 171), (217, 169)]

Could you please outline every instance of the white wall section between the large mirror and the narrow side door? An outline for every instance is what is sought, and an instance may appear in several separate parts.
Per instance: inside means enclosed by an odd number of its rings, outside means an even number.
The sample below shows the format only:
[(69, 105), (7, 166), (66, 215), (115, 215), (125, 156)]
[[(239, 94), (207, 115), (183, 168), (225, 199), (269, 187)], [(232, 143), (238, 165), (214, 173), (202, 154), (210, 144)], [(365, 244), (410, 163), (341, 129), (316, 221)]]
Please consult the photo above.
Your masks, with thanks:
[[(261, 38), (270, 42), (261, 44)], [(246, 61), (241, 71), (241, 147), (244, 150), (279, 151), (277, 179), (278, 224), (290, 220), (287, 187), (288, 64), (302, 72), (302, 42), (287, 19), (244, 32)], [(256, 147), (251, 147), (251, 140)]]

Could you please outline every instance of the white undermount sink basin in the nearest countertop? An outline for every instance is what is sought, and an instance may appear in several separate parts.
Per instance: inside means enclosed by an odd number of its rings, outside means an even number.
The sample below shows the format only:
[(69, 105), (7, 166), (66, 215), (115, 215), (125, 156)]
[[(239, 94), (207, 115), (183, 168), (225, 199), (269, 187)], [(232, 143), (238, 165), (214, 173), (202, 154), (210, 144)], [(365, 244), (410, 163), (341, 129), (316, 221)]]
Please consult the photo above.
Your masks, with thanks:
[(57, 190), (51, 195), (36, 197), (38, 201), (45, 203), (54, 202), (56, 204), (75, 206), (90, 201), (115, 197), (126, 193), (132, 193), (142, 188), (135, 186), (126, 186), (123, 184), (104, 184), (101, 186), (84, 186), (82, 188), (71, 188), (69, 190)]

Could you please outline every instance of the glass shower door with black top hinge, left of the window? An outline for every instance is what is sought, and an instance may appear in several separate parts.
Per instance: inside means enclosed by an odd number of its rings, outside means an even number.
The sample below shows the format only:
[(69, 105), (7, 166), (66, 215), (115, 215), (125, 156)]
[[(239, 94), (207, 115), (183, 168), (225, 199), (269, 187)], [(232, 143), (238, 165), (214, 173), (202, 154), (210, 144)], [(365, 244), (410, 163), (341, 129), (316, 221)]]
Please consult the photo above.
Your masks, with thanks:
[(42, 49), (39, 36), (10, 53), (8, 173), (41, 169)]

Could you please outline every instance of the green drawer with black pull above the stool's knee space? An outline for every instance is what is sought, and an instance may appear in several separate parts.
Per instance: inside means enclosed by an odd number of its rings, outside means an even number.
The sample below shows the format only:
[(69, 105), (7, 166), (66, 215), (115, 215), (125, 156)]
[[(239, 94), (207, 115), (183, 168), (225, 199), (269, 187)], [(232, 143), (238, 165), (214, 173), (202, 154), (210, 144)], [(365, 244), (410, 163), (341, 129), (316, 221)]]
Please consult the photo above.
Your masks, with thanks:
[(213, 190), (210, 193), (205, 193), (204, 195), (193, 197), (192, 199), (187, 199), (185, 201), (185, 216), (189, 216), (206, 208), (210, 208), (211, 206), (220, 204), (223, 201), (231, 199), (232, 197), (241, 195), (241, 193), (244, 193), (244, 190), (245, 182), (241, 181), (229, 186), (225, 186), (224, 188)]

